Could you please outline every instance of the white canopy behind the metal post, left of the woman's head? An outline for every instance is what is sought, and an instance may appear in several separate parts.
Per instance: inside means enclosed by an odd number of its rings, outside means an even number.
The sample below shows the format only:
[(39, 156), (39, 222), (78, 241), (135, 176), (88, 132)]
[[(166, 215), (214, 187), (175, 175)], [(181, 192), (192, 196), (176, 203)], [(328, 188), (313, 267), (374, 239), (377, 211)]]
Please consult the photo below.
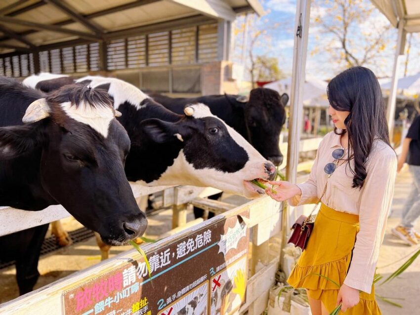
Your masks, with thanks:
[[(303, 85), (303, 104), (305, 106), (321, 106), (328, 107), (327, 85), (324, 80), (313, 76), (306, 75), (305, 84)], [(270, 82), (264, 85), (279, 93), (291, 93), (292, 77)]]

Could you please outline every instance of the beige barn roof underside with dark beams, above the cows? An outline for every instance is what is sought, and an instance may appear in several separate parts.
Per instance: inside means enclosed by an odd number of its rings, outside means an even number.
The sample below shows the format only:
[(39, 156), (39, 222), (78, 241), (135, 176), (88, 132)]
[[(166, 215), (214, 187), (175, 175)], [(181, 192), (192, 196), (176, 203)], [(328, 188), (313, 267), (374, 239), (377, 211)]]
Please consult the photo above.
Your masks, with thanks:
[[(263, 12), (258, 0), (2, 0), (0, 54), (16, 50), (13, 46), (33, 49), (76, 39), (107, 40), (112, 32), (119, 31), (119, 35), (123, 30), (161, 22), (173, 21), (170, 25), (175, 27), (177, 19), (186, 17), (201, 15), (216, 21), (231, 17), (235, 10)], [(42, 29), (45, 26), (49, 29)]]

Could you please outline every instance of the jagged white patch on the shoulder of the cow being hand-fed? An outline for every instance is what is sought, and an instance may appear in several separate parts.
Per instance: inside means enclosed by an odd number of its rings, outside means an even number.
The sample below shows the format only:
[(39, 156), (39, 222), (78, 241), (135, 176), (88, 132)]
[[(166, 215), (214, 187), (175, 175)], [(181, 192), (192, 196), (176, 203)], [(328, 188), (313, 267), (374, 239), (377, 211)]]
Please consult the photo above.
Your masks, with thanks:
[(133, 105), (135, 108), (140, 109), (143, 106), (140, 106), (140, 103), (149, 98), (145, 93), (143, 93), (139, 88), (134, 85), (116, 78), (104, 78), (99, 76), (87, 76), (80, 79), (77, 79), (76, 82), (82, 82), (84, 80), (90, 80), (90, 87), (97, 87), (102, 84), (110, 84), (108, 89), (108, 94), (114, 98), (114, 108), (117, 110), (118, 107), (128, 102)]

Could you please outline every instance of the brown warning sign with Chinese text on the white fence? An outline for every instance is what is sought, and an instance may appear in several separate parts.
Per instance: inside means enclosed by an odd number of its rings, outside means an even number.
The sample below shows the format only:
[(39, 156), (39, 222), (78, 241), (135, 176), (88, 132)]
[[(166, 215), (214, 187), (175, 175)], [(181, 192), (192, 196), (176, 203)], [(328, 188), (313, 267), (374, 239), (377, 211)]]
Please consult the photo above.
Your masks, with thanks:
[[(248, 217), (248, 213), (241, 214)], [(66, 315), (229, 315), (245, 302), (249, 230), (221, 218), (63, 293)]]

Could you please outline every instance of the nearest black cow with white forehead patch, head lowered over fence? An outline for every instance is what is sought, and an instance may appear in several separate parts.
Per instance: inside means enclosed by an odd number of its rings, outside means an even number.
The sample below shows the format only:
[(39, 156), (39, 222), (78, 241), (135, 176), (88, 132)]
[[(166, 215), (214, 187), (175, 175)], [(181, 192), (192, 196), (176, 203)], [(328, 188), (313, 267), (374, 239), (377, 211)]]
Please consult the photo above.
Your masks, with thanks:
[[(62, 204), (108, 244), (144, 233), (146, 216), (124, 173), (130, 141), (105, 91), (73, 84), (46, 96), (0, 77), (0, 113), (0, 205)], [(39, 277), (47, 227), (0, 237), (0, 259), (16, 260), (21, 294)]]

